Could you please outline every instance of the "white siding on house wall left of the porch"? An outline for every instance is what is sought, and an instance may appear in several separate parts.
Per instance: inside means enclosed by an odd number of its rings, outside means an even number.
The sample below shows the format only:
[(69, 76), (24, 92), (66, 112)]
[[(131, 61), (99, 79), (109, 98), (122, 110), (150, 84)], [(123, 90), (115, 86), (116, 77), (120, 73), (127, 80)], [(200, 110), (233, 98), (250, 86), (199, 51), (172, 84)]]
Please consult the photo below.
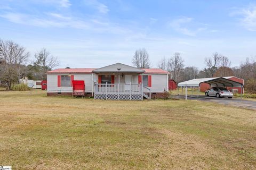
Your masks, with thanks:
[(72, 87), (58, 87), (58, 75), (74, 75), (74, 80), (84, 80), (85, 92), (92, 92), (92, 74), (47, 74), (47, 92), (72, 92)]

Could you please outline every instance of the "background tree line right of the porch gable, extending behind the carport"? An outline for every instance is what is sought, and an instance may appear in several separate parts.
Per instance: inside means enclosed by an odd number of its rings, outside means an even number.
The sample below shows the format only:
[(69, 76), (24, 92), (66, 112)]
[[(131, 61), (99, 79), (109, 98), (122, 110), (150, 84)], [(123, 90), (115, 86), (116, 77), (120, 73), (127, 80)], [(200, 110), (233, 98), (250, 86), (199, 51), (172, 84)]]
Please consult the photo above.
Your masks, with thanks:
[[(150, 68), (149, 54), (145, 48), (135, 51), (132, 58), (133, 66)], [(245, 81), (248, 92), (256, 92), (256, 57), (247, 57), (239, 66), (231, 66), (227, 56), (214, 52), (212, 56), (204, 58), (204, 69), (196, 66), (186, 66), (180, 53), (170, 57), (163, 57), (158, 62), (158, 68), (170, 72), (170, 79), (177, 83), (197, 78), (230, 77), (235, 76)]]

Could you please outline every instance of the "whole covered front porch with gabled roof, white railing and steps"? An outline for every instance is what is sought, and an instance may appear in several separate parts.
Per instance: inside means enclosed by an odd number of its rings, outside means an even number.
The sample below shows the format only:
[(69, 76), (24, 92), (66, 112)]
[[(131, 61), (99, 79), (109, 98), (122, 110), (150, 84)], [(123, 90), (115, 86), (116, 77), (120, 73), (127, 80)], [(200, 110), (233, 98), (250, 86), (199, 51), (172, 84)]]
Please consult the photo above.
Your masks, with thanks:
[(93, 72), (98, 75), (98, 82), (94, 81), (94, 99), (143, 100), (143, 97), (151, 98), (150, 89), (145, 87), (146, 84), (143, 86), (144, 70), (116, 63), (93, 70)]

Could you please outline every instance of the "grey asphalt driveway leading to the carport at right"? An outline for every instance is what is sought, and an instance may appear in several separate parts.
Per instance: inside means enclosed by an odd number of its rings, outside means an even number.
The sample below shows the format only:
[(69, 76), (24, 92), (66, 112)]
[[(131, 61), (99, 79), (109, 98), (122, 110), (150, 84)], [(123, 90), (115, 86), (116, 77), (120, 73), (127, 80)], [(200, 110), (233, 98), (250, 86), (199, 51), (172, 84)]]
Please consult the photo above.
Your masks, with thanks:
[[(185, 96), (177, 96), (179, 98), (185, 98)], [(189, 100), (201, 100), (201, 101), (209, 101), (209, 102), (216, 102), (223, 105), (233, 105), (237, 107), (245, 107), (249, 109), (256, 110), (256, 100), (246, 100), (241, 98), (217, 98), (217, 97), (206, 97), (206, 96), (199, 96), (198, 98), (188, 97)]]

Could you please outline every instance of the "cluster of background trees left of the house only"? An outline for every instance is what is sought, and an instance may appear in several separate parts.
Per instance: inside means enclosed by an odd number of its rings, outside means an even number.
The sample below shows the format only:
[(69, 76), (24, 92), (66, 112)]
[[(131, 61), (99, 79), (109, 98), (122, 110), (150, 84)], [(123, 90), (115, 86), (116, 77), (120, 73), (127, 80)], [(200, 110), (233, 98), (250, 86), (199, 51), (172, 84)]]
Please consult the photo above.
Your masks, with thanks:
[(11, 89), (19, 79), (28, 77), (32, 80), (46, 80), (46, 71), (59, 65), (57, 57), (42, 48), (29, 61), (30, 53), (25, 47), (11, 40), (0, 40), (0, 80)]

